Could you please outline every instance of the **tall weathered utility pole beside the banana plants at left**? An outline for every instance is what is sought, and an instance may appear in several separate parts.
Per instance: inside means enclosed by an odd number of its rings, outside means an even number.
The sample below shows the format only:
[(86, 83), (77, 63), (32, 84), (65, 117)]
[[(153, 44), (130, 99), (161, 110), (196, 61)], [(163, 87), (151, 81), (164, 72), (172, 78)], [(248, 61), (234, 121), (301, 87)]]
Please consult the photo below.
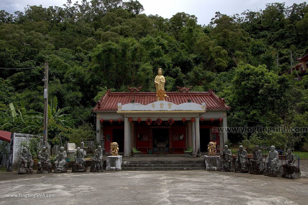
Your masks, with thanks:
[(42, 81), (45, 83), (45, 88), (44, 88), (44, 125), (43, 125), (43, 146), (47, 148), (47, 124), (48, 124), (48, 62), (45, 62), (45, 76)]

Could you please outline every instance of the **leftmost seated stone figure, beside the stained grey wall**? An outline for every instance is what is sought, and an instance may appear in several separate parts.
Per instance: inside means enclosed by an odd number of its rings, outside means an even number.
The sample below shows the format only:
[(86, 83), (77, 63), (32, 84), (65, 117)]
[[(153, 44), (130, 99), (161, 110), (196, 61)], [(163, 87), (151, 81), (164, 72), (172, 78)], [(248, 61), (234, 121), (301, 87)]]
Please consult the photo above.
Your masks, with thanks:
[(18, 155), (18, 169), (17, 174), (33, 174), (33, 160), (30, 151), (23, 147)]

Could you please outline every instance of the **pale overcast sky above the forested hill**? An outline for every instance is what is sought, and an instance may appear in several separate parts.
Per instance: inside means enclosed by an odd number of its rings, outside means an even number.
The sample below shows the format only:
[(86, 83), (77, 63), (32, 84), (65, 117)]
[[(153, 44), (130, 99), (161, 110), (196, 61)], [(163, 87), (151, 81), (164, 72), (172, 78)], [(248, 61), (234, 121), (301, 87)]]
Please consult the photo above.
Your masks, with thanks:
[[(72, 0), (72, 2), (75, 2), (75, 0)], [(260, 8), (265, 9), (266, 3), (286, 2), (286, 6), (291, 6), (293, 3), (302, 3), (304, 0), (139, 0), (139, 2), (144, 7), (143, 13), (147, 15), (158, 14), (164, 18), (171, 18), (178, 12), (185, 12), (195, 15), (198, 18), (198, 24), (208, 25), (211, 18), (215, 17), (216, 11), (227, 15), (241, 14), (247, 9), (254, 11)], [(66, 0), (0, 0), (0, 10), (14, 14), (17, 10), (23, 12), (27, 5), (49, 7), (62, 6), (65, 3)]]

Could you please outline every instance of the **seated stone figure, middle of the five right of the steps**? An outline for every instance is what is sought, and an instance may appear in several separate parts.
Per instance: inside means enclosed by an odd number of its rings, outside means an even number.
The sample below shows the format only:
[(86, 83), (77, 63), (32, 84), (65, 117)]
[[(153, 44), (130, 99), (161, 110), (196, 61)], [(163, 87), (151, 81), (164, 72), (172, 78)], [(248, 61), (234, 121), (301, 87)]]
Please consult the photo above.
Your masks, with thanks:
[(253, 158), (249, 160), (250, 163), (250, 174), (263, 174), (264, 163), (263, 163), (263, 155), (259, 146), (254, 146), (254, 150), (252, 152)]

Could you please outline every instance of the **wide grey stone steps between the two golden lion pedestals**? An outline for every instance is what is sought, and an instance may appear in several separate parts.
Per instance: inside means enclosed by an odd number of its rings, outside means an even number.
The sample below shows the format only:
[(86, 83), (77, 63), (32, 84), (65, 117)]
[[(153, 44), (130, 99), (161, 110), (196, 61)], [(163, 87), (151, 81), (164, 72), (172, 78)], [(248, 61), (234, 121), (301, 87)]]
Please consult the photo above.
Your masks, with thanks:
[(145, 171), (145, 170), (205, 170), (204, 160), (131, 160), (122, 161), (121, 170)]

